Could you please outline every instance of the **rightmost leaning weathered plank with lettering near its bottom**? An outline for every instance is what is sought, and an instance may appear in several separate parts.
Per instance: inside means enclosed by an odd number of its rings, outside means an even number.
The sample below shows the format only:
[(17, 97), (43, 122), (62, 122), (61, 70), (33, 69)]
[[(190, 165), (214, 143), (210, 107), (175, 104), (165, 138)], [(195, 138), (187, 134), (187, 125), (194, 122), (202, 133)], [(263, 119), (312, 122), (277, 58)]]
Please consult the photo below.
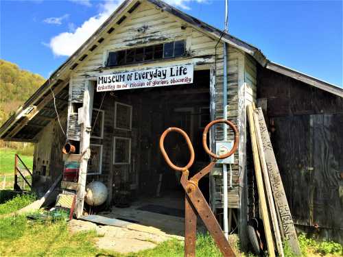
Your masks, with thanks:
[(291, 212), (289, 210), (285, 189), (283, 188), (279, 167), (276, 163), (274, 151), (267, 130), (267, 125), (263, 117), (261, 108), (258, 108), (259, 125), (261, 128), (261, 138), (263, 143), (263, 151), (265, 161), (268, 167), (270, 182), (272, 184), (272, 192), (276, 203), (276, 211), (279, 212), (281, 230), (284, 236), (283, 240), (287, 241), (294, 254), (301, 255), (296, 229), (294, 227)]

